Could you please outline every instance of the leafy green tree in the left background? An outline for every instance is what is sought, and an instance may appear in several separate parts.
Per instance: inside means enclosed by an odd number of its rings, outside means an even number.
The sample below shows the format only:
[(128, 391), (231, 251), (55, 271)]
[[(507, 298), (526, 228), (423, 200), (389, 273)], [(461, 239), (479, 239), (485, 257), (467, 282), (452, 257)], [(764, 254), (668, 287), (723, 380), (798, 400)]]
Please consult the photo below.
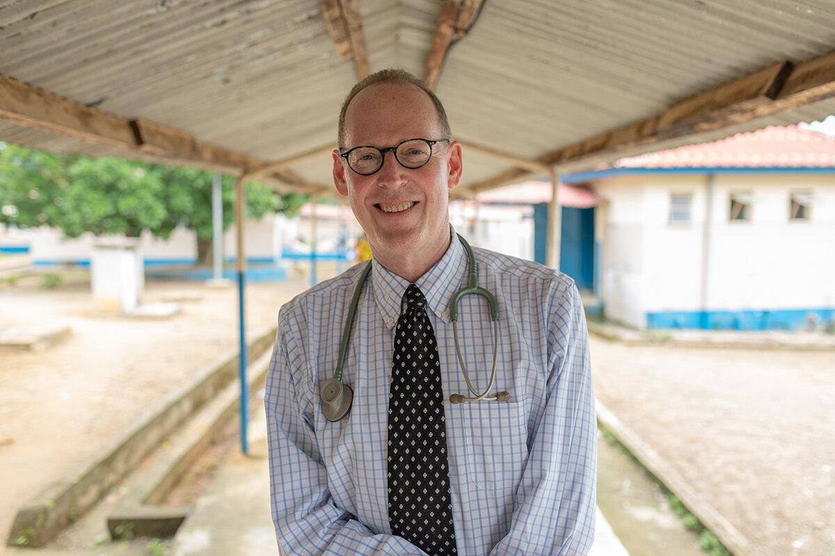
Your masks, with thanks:
[[(148, 230), (167, 239), (177, 226), (195, 231), (198, 263), (211, 259), (213, 174), (121, 158), (43, 153), (0, 143), (0, 223), (50, 226), (68, 238), (82, 233), (138, 237)], [(223, 228), (233, 221), (234, 179), (222, 179)], [(246, 184), (246, 215), (292, 215), (306, 195), (279, 195), (261, 183)]]

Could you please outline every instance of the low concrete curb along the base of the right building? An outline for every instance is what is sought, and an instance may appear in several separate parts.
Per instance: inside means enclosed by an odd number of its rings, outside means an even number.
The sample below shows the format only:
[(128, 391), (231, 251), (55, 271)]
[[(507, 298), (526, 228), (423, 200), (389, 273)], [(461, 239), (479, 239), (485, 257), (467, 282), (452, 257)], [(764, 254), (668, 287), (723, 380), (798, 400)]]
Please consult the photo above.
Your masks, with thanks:
[(781, 342), (772, 338), (751, 338), (747, 340), (731, 340), (726, 338), (700, 339), (676, 338), (675, 333), (664, 330), (646, 332), (629, 328), (595, 323), (589, 321), (589, 333), (610, 342), (620, 342), (628, 346), (655, 346), (669, 348), (714, 348), (714, 349), (780, 349), (787, 351), (835, 351), (835, 341), (832, 343), (809, 342)]

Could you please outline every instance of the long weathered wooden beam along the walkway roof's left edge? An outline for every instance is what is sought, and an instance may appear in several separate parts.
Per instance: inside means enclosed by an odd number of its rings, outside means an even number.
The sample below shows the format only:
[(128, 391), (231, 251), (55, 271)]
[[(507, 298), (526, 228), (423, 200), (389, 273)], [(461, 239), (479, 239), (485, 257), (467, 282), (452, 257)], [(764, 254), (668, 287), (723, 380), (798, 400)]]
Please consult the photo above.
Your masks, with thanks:
[(280, 180), (305, 191), (322, 187), (306, 183), (288, 168), (270, 168), (266, 161), (198, 141), (179, 129), (144, 119), (119, 118), (4, 75), (0, 75), (0, 120), (43, 129), (84, 143), (143, 153), (167, 163), (235, 174), (246, 173), (251, 168), (267, 168), (261, 173), (267, 180)]

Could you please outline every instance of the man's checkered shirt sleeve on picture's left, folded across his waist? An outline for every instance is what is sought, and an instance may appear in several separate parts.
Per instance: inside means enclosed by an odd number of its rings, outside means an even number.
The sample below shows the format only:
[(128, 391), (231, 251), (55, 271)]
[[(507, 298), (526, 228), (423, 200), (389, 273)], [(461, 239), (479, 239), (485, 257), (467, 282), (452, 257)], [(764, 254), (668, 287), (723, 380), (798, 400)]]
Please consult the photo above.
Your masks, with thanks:
[(405, 538), (372, 533), (333, 502), (312, 424), (317, 390), (307, 382), (303, 354), (281, 313), (265, 394), (271, 511), (280, 553), (427, 556)]

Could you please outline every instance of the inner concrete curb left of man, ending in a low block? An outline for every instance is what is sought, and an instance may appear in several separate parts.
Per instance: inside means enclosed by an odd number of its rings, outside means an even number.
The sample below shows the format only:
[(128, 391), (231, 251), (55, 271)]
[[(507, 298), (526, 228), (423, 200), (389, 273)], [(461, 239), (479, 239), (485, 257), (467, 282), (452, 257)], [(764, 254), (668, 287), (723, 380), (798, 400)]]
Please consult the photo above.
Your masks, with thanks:
[[(252, 395), (266, 381), (271, 356), (271, 350), (266, 351), (248, 369), (247, 384)], [(237, 381), (233, 381), (190, 419), (185, 429), (170, 440), (171, 448), (136, 480), (139, 486), (108, 517), (110, 538), (119, 538), (120, 531), (125, 530), (135, 537), (174, 536), (192, 508), (156, 504), (182, 478), (225, 423), (235, 416), (239, 407), (240, 387)]]

